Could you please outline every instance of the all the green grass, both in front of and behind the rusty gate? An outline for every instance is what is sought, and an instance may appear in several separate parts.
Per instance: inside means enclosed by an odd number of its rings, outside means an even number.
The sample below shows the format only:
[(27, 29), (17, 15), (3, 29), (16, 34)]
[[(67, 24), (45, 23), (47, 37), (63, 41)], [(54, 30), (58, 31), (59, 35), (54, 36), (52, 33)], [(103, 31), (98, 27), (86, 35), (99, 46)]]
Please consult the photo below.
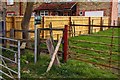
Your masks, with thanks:
[[(98, 32), (96, 34), (100, 35), (111, 35), (112, 30), (106, 30), (103, 32)], [(118, 29), (115, 29), (114, 35), (118, 36)], [(86, 41), (94, 41), (94, 42), (105, 42), (110, 43), (111, 39), (108, 38), (98, 38), (98, 37), (88, 37), (88, 36), (79, 36), (73, 37), (69, 39), (69, 46), (82, 46), (88, 48), (99, 49), (102, 51), (109, 50), (109, 47), (105, 47), (103, 45), (93, 45), (88, 43), (76, 43), (76, 40), (86, 40)], [(118, 39), (114, 40), (114, 44), (118, 44)], [(69, 48), (70, 52), (73, 52), (77, 57), (72, 57), (74, 54), (70, 54), (70, 58), (67, 63), (61, 63), (61, 66), (53, 66), (52, 69), (46, 73), (48, 64), (50, 62), (50, 57), (48, 54), (41, 54), (38, 62), (34, 64), (34, 54), (32, 51), (25, 50), (25, 54), (21, 55), (21, 77), (23, 79), (29, 78), (29, 80), (33, 80), (33, 78), (71, 78), (71, 79), (119, 79), (119, 76), (113, 74), (110, 70), (101, 69), (100, 67), (96, 67), (95, 65), (85, 63), (82, 61), (75, 60), (74, 58), (81, 58), (80, 54), (88, 54), (92, 56), (98, 56), (102, 58), (107, 58), (108, 55), (97, 54), (88, 50), (74, 49)], [(118, 54), (118, 48), (114, 47), (113, 51)], [(108, 56), (109, 57), (109, 56)], [(94, 58), (83, 57), (93, 62), (104, 63), (104, 61), (99, 61)], [(113, 55), (113, 60), (118, 60), (118, 56)], [(61, 60), (61, 57), (60, 57)], [(14, 68), (15, 69), (15, 68)]]

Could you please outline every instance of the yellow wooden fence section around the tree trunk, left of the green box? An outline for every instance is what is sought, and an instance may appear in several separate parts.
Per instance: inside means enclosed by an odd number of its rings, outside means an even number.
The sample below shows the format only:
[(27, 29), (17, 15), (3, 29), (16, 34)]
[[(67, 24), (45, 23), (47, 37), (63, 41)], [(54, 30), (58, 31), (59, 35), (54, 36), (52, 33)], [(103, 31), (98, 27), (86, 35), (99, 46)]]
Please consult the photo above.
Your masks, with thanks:
[[(22, 16), (14, 16), (14, 17), (6, 17), (6, 36), (10, 37), (10, 30), (22, 30), (21, 29), (21, 21)], [(29, 30), (34, 30), (34, 17), (31, 17), (30, 23), (29, 23)], [(30, 33), (30, 36), (33, 37), (34, 34)], [(15, 32), (15, 38), (16, 39), (22, 39), (22, 32)]]

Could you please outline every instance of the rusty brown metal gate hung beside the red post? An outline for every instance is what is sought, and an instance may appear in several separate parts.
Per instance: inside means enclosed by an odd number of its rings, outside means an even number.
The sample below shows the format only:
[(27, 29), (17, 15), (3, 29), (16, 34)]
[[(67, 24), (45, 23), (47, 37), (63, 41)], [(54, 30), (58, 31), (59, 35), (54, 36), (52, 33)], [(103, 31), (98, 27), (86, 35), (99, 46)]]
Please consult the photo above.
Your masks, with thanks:
[[(93, 65), (107, 68), (118, 73), (119, 68), (119, 26), (99, 26), (99, 25), (72, 25), (72, 27), (92, 26), (92, 27), (108, 27), (103, 30), (102, 34), (80, 34), (69, 40), (69, 53), (72, 59), (91, 63)], [(89, 28), (89, 27), (88, 27)], [(74, 28), (75, 29), (75, 28)], [(93, 31), (93, 30), (89, 30)], [(109, 31), (109, 33), (107, 33)], [(115, 32), (116, 31), (116, 32)], [(74, 32), (75, 33), (75, 32)], [(106, 33), (106, 34), (105, 34)]]

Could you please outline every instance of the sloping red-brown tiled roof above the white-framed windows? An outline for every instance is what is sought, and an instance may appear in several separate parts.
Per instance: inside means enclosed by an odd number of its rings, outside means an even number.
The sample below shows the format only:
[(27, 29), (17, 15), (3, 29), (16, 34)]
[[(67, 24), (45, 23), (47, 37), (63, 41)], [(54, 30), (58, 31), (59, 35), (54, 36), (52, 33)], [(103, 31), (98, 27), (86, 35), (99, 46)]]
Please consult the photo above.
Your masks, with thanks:
[(37, 10), (63, 10), (63, 9), (71, 9), (76, 2), (52, 2), (52, 3), (43, 3), (39, 7), (35, 8), (34, 11)]

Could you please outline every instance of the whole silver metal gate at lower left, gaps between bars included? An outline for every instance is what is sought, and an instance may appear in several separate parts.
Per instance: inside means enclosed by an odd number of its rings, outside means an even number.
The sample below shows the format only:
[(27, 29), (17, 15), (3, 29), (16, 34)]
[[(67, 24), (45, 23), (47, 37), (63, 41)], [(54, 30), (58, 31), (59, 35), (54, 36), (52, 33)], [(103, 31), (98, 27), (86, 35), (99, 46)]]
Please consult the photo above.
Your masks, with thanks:
[[(11, 44), (4, 45), (2, 40), (11, 41), (17, 46), (12, 49)], [(20, 41), (5, 37), (0, 37), (0, 41), (0, 79), (20, 79)]]

